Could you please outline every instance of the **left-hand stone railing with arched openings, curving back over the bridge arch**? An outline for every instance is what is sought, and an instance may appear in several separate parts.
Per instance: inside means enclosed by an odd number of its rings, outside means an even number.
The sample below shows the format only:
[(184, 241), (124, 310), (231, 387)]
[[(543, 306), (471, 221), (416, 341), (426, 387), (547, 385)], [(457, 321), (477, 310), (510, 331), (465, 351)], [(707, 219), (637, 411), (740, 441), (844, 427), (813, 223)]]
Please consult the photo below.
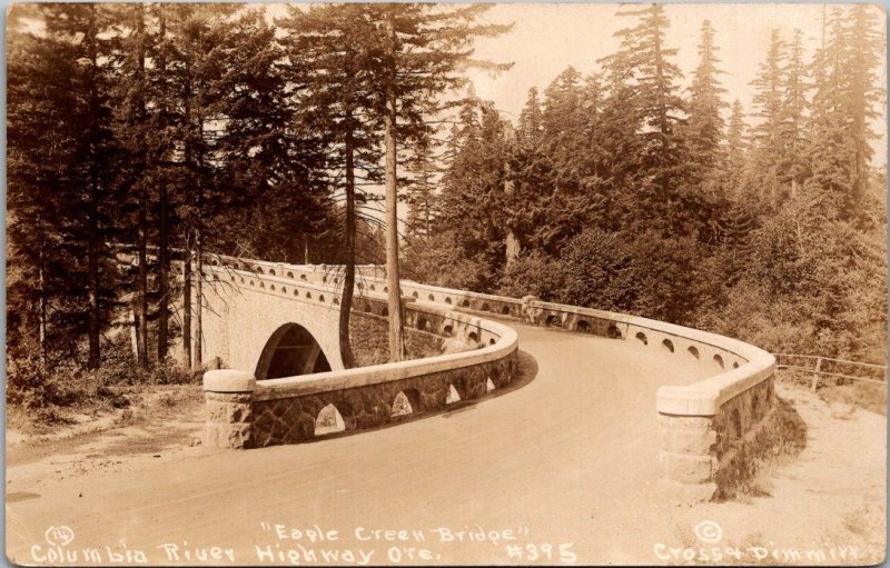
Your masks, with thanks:
[[(228, 265), (228, 266), (227, 266)], [(270, 266), (210, 266), (218, 281), (246, 287), (280, 301), (338, 305), (336, 286), (300, 279), (295, 267), (281, 272)], [(248, 270), (243, 270), (248, 268)], [(273, 276), (274, 272), (274, 276)], [(305, 273), (305, 271), (301, 271)], [(315, 280), (315, 279), (312, 279)], [(382, 317), (386, 295), (363, 291), (354, 310)], [(332, 310), (336, 312), (336, 310)], [(334, 318), (333, 321), (336, 321)], [(247, 370), (205, 373), (207, 442), (211, 447), (257, 448), (295, 444), (342, 430), (364, 429), (476, 399), (513, 380), (516, 331), (434, 305), (405, 298), (406, 327), (446, 339), (458, 352), (396, 363), (340, 369), (295, 377), (257, 380)]]

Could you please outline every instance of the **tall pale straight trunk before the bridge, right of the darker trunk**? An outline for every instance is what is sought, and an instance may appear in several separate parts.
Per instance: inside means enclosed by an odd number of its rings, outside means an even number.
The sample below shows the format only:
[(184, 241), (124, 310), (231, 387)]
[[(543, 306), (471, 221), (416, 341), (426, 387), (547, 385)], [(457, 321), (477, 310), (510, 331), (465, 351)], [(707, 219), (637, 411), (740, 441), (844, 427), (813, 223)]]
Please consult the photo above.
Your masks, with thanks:
[(396, 187), (396, 63), (397, 38), (393, 22), (386, 21), (392, 39), (393, 60), (386, 81), (384, 139), (386, 143), (386, 283), (389, 287), (389, 360), (405, 359), (405, 330), (402, 318), (402, 290), (398, 275), (398, 189)]

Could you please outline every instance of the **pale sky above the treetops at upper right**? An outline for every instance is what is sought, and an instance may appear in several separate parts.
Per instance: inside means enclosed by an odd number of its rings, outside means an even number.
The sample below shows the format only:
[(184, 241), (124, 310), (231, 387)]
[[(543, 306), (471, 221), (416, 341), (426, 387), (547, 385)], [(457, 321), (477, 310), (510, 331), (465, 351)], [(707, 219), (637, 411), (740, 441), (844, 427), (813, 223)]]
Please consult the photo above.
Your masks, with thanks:
[[(772, 29), (779, 29), (787, 41), (795, 28), (803, 32), (805, 61), (821, 43), (824, 4), (803, 3), (665, 3), (671, 27), (665, 32), (668, 48), (678, 49), (673, 61), (684, 73), (683, 87), (689, 84), (698, 64), (698, 43), (702, 21), (708, 19), (715, 30), (721, 77), (726, 89), (725, 100), (739, 99), (750, 112), (754, 89), (751, 81), (765, 56)], [(627, 7), (632, 8), (632, 7)], [(500, 77), (471, 71), (476, 94), (493, 100), (495, 107), (514, 121), (518, 117), (531, 87), (542, 91), (568, 66), (582, 73), (599, 70), (597, 59), (619, 48), (614, 33), (632, 26), (633, 17), (619, 17), (614, 3), (502, 3), (494, 4), (485, 20), (514, 23), (510, 33), (476, 41), (475, 57), (496, 62), (513, 62), (514, 67)], [(831, 4), (825, 7), (831, 12)], [(881, 8), (873, 7), (876, 13)], [(626, 10), (626, 8), (624, 9)], [(880, 13), (881, 21), (884, 21)], [(880, 73), (887, 82), (886, 61)], [(882, 114), (886, 116), (886, 109)], [(886, 119), (876, 124), (881, 140), (876, 145), (876, 161), (886, 157)]]

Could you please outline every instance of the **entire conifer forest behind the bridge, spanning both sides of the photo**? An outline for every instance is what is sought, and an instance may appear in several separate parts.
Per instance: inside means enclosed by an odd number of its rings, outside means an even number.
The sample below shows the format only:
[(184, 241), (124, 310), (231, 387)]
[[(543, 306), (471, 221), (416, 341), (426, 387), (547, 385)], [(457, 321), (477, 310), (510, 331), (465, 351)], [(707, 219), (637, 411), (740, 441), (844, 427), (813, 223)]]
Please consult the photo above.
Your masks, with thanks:
[[(8, 401), (200, 369), (189, 291), (201, 298), (208, 253), (384, 263), (395, 225), (403, 278), (886, 359), (874, 10), (830, 9), (811, 53), (800, 31), (773, 31), (745, 109), (726, 100), (708, 20), (683, 87), (663, 7), (622, 6), (620, 48), (531, 88), (515, 122), (467, 80), (510, 69), (473, 58), (475, 39), (510, 33), (486, 10), (11, 9)], [(122, 267), (123, 250), (137, 261)]]

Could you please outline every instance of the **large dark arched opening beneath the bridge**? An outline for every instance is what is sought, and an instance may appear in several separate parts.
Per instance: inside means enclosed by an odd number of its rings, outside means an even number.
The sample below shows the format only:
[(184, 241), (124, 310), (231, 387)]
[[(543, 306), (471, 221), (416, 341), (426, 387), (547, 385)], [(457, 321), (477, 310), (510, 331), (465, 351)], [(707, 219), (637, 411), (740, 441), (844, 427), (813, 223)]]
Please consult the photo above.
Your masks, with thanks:
[(264, 380), (329, 370), (330, 363), (313, 335), (298, 323), (286, 323), (266, 342), (255, 375)]

